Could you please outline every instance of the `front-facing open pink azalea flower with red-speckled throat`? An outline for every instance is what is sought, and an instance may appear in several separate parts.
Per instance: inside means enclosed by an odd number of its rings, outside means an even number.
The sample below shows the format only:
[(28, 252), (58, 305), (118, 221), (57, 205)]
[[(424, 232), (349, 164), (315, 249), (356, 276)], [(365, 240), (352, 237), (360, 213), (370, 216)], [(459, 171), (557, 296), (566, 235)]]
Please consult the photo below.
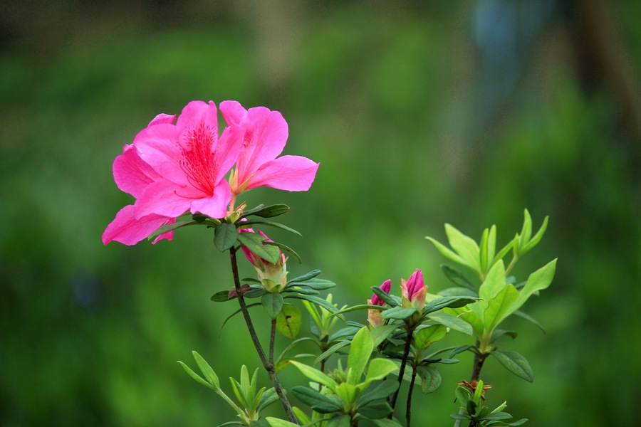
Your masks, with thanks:
[(218, 137), (214, 102), (192, 101), (176, 125), (147, 127), (134, 139), (140, 157), (162, 179), (145, 187), (135, 204), (135, 217), (155, 214), (176, 218), (190, 211), (223, 218), (231, 201), (224, 176), (234, 165), (244, 130), (227, 127)]

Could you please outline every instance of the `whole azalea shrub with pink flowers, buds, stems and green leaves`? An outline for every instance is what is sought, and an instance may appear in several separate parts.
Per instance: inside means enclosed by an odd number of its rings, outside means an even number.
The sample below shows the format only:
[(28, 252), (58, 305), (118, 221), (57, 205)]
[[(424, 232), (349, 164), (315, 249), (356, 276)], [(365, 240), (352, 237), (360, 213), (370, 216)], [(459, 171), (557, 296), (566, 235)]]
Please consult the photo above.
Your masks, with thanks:
[[(222, 132), (218, 110), (226, 122)], [(192, 101), (180, 115), (157, 115), (113, 162), (116, 185), (135, 201), (107, 226), (105, 245), (171, 241), (177, 229), (201, 226), (213, 237), (214, 246), (229, 256), (234, 288), (218, 290), (211, 299), (237, 304), (229, 308), (227, 319), (244, 318), (246, 337), (271, 384), (269, 388), (258, 384), (259, 369), (252, 359), (244, 361), (239, 379), (231, 379), (229, 386), (221, 384), (212, 365), (197, 352), (193, 355), (199, 373), (179, 362), (189, 376), (236, 411), (238, 418), (226, 424), (330, 427), (357, 426), (367, 420), (377, 426), (410, 426), (415, 388), (422, 391), (422, 399), (437, 389), (452, 394), (454, 426), (525, 423), (526, 418), (515, 420), (505, 411), (506, 403), (486, 406), (485, 395), (492, 387), (483, 381), (481, 369), (488, 357), (494, 357), (511, 373), (533, 381), (526, 357), (504, 349), (505, 337), (514, 338), (516, 332), (501, 329), (501, 324), (514, 315), (543, 329), (521, 307), (551, 284), (556, 260), (525, 280), (517, 280), (511, 271), (541, 241), (548, 218), (533, 232), (525, 210), (521, 231), (501, 248), (496, 246), (496, 226), (486, 228), (477, 242), (446, 224), (447, 245), (427, 239), (447, 258), (442, 270), (451, 288), (428, 292), (422, 270), (416, 269), (396, 288), (391, 279), (372, 285), (371, 297), (363, 297), (365, 304), (339, 307), (326, 293), (335, 283), (320, 278), (320, 270), (288, 276), (287, 261), (302, 263), (301, 257), (264, 231), (279, 228), (299, 234), (273, 220), (289, 207), (248, 206), (242, 200), (246, 191), (261, 186), (287, 191), (311, 188), (319, 164), (306, 157), (281, 156), (287, 139), (288, 125), (279, 112), (266, 107), (246, 110), (236, 101), (221, 102), (219, 108), (212, 101)], [(238, 257), (239, 253), (243, 255)], [(242, 258), (256, 270), (255, 277), (240, 278)], [(250, 314), (248, 309), (254, 306), (264, 310)], [(303, 331), (305, 312), (310, 327)], [(271, 324), (269, 337), (263, 338), (266, 346), (256, 333), (256, 321)], [(468, 336), (469, 344), (442, 345), (450, 334)], [(276, 357), (275, 342), (281, 336), (289, 343)], [(313, 342), (318, 352), (296, 353), (302, 342)], [(442, 384), (439, 372), (458, 363), (456, 357), (463, 352), (474, 354), (469, 381)], [(251, 378), (248, 364), (253, 368)], [(300, 382), (282, 384), (283, 369), (300, 372)], [(400, 394), (407, 396), (405, 411), (397, 406)], [(293, 399), (296, 405), (291, 404)], [(264, 408), (277, 402), (282, 416), (264, 416)]]

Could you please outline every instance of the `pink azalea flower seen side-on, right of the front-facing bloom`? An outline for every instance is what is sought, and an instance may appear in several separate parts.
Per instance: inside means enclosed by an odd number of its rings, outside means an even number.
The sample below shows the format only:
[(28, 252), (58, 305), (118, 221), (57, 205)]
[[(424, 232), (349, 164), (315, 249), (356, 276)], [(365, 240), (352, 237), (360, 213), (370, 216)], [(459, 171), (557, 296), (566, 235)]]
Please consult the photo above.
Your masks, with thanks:
[(243, 148), (229, 183), (234, 194), (258, 186), (288, 191), (309, 189), (318, 163), (301, 156), (276, 159), (288, 137), (287, 122), (280, 112), (266, 107), (245, 110), (236, 101), (221, 102), (220, 111), (228, 125), (244, 128)]

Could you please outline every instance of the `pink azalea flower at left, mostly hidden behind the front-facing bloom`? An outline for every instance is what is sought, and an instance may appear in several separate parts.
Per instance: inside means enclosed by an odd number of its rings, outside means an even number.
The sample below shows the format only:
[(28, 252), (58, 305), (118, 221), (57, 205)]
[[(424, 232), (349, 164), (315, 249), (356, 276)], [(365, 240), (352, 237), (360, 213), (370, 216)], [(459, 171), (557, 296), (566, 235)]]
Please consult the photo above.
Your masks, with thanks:
[[(157, 115), (147, 127), (171, 123), (175, 117), (165, 114)], [(136, 198), (142, 195), (147, 186), (162, 180), (162, 176), (140, 158), (133, 145), (125, 145), (123, 154), (115, 158), (113, 178), (119, 189)], [(103, 243), (106, 245), (110, 241), (117, 241), (125, 245), (134, 245), (147, 238), (158, 227), (175, 221), (176, 218), (157, 214), (137, 218), (134, 205), (127, 205), (116, 214), (114, 220), (105, 228)], [(173, 237), (173, 231), (169, 231), (158, 236), (153, 243), (163, 239), (172, 240)]]

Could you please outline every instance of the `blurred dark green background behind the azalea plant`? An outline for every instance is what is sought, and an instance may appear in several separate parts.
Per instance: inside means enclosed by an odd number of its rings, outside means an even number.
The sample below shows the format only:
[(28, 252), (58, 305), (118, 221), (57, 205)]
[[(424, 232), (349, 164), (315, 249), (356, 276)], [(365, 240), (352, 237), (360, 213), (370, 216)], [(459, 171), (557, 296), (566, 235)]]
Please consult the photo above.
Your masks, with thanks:
[[(257, 189), (305, 236), (272, 233), (338, 283), (339, 304), (422, 268), (447, 286), (445, 222), (503, 245), (528, 208), (550, 225), (514, 273), (558, 257), (551, 288), (512, 320), (489, 403), (531, 426), (632, 425), (641, 381), (641, 3), (634, 0), (11, 1), (0, 13), (1, 426), (215, 426), (231, 408), (175, 362), (197, 350), (222, 378), (259, 360), (212, 233), (103, 246), (132, 199), (113, 183), (123, 144), (189, 100), (265, 105), (286, 154), (320, 162), (311, 191)], [(249, 265), (241, 275), (252, 275)], [(256, 311), (256, 316), (260, 316)], [(353, 320), (363, 321), (363, 313)], [(449, 344), (467, 339), (452, 334)], [(286, 346), (286, 339), (278, 342)], [(302, 350), (302, 348), (301, 348)], [(449, 426), (454, 383), (415, 397)], [(283, 372), (286, 386), (301, 378)], [(269, 385), (261, 372), (261, 384)], [(420, 392), (418, 392), (420, 394)], [(421, 404), (418, 404), (418, 402)], [(271, 414), (279, 415), (274, 405)], [(428, 422), (429, 420), (429, 422)], [(418, 421), (417, 421), (418, 422)]]

